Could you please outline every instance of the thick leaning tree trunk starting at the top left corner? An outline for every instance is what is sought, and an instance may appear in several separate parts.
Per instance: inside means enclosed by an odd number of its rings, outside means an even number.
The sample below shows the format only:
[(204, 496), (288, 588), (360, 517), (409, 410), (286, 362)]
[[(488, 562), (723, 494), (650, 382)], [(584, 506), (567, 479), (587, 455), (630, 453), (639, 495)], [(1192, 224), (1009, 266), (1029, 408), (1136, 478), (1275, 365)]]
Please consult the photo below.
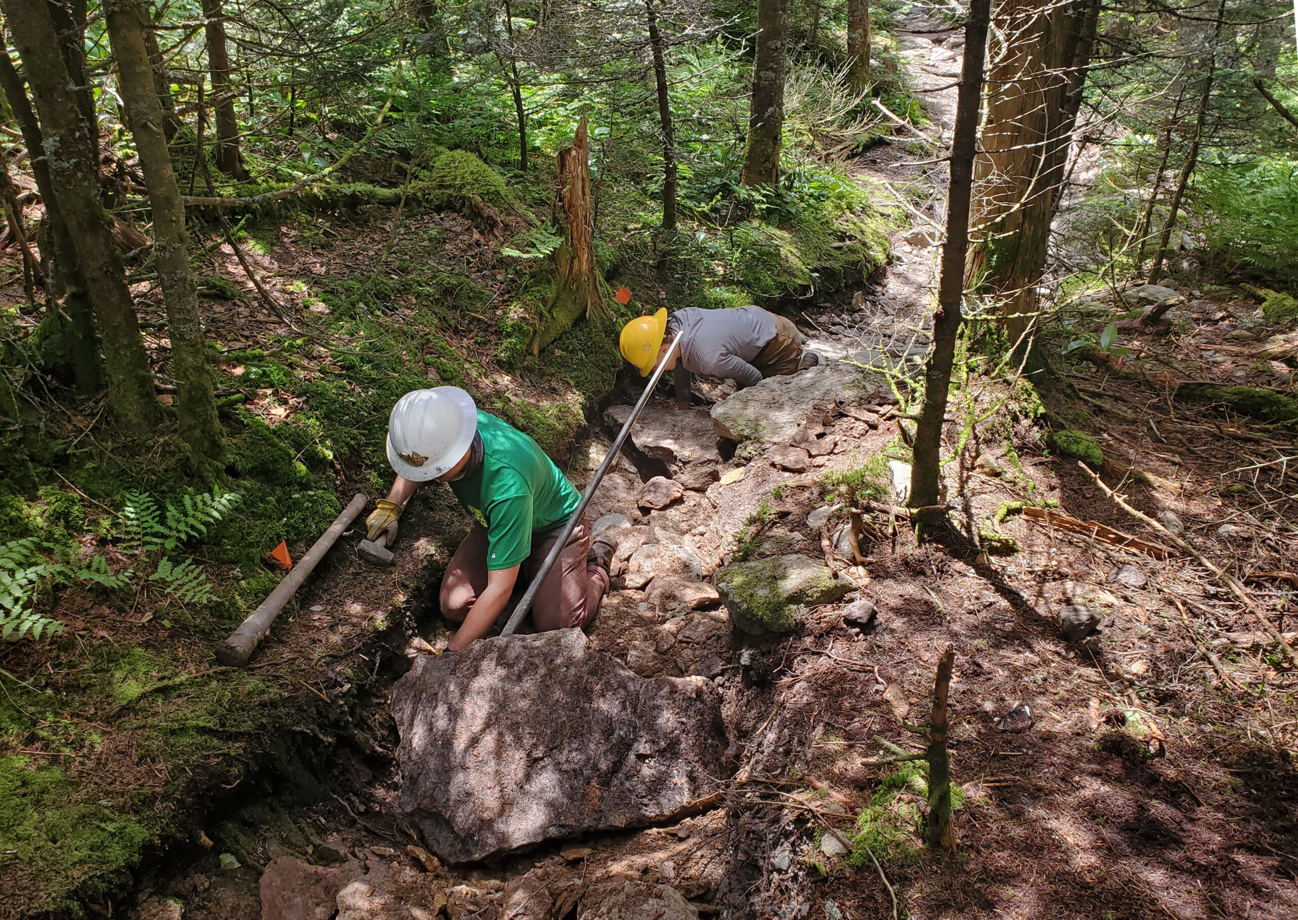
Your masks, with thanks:
[(40, 115), (49, 178), (58, 189), (58, 210), (75, 245), (77, 262), (99, 318), (108, 397), (118, 423), (144, 436), (153, 432), (158, 404), (153, 371), (140, 337), (135, 304), (126, 287), (113, 241), (112, 218), (99, 186), (95, 122), (87, 123), (74, 96), (45, 0), (0, 0)]

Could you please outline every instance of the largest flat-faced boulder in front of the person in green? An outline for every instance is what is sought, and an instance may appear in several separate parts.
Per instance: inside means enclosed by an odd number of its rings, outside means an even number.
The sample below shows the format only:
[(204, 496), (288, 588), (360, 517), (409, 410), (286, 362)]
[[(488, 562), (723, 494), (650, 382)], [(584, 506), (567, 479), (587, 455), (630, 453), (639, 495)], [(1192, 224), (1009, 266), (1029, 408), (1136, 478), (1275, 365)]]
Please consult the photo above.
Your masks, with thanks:
[(711, 684), (637, 677), (580, 629), (422, 657), (392, 715), (398, 807), (453, 863), (675, 820), (715, 792), (727, 745)]

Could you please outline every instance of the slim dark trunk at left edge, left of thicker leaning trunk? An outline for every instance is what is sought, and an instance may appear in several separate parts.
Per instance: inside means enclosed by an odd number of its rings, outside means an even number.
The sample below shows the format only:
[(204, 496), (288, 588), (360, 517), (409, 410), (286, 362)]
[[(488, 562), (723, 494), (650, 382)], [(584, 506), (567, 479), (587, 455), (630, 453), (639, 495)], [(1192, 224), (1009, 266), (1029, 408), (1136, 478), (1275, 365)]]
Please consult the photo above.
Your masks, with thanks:
[[(9, 108), (22, 131), (27, 151), (43, 151), (36, 113), (31, 109), (22, 77), (18, 75), (9, 60), (9, 49), (3, 45), (0, 45), (0, 90), (9, 100)], [(99, 345), (95, 343), (95, 308), (91, 305), (86, 282), (77, 262), (77, 247), (67, 232), (67, 224), (64, 222), (62, 210), (58, 206), (58, 197), (55, 195), (55, 183), (49, 178), (49, 160), (32, 153), (27, 162), (36, 179), (36, 189), (45, 206), (45, 223), (49, 227), (49, 252), (42, 247), (42, 258), (53, 265), (51, 274), (55, 284), (51, 293), (62, 298), (64, 313), (67, 314), (66, 321), (56, 313), (53, 317), (47, 317), (44, 322), (55, 323), (62, 330), (77, 392), (82, 396), (92, 396), (99, 392), (104, 381), (104, 366), (99, 357)]]

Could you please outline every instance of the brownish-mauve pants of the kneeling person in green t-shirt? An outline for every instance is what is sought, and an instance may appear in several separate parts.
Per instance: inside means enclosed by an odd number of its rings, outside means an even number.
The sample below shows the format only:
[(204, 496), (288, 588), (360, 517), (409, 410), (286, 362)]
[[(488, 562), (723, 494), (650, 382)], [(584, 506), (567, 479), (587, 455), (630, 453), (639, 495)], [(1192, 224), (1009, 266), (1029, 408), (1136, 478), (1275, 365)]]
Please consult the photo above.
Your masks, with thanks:
[[(532, 583), (550, 548), (558, 540), (562, 527), (532, 535), (532, 554), (518, 570), (517, 588), (523, 590)], [(541, 583), (532, 601), (532, 623), (537, 632), (584, 627), (594, 618), (600, 601), (609, 590), (609, 574), (585, 558), (591, 551), (591, 522), (583, 514), (572, 528), (559, 558)], [(450, 557), (447, 574), (441, 579), (441, 615), (453, 623), (463, 623), (469, 610), (487, 590), (487, 528), (474, 522), (456, 554)], [(513, 611), (513, 607), (509, 609)]]

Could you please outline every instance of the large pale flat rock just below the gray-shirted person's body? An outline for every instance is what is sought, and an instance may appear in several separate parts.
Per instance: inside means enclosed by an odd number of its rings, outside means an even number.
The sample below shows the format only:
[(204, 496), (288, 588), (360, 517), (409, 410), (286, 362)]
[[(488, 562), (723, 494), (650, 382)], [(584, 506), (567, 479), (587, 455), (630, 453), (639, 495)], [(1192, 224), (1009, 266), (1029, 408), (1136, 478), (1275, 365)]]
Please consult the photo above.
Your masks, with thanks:
[(814, 406), (859, 404), (868, 397), (893, 402), (883, 376), (844, 363), (819, 365), (792, 376), (766, 378), (713, 406), (713, 428), (719, 437), (750, 437), (790, 444)]

